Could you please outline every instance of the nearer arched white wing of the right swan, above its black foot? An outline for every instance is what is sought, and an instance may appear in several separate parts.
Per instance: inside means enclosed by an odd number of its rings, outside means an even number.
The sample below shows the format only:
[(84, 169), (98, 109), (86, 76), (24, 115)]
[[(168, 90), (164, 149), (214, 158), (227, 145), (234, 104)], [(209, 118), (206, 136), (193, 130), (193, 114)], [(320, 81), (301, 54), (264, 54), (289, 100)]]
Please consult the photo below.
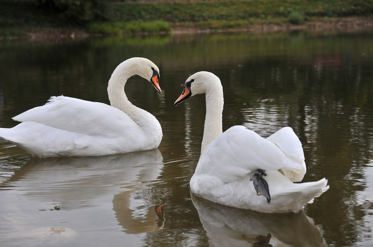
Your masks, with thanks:
[(275, 143), (254, 131), (244, 126), (233, 126), (207, 146), (195, 172), (210, 174), (224, 183), (230, 183), (256, 169), (286, 169), (301, 173), (303, 164), (289, 158)]

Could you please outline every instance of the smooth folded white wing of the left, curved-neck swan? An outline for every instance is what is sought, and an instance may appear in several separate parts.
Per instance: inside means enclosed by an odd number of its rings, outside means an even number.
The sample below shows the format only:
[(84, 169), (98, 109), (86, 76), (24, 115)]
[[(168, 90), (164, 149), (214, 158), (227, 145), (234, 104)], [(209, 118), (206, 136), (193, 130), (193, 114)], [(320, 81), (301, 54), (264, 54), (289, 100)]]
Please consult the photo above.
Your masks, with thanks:
[(142, 132), (140, 126), (121, 110), (99, 102), (72, 97), (51, 97), (50, 102), (15, 116), (20, 122), (37, 122), (84, 135), (117, 137)]

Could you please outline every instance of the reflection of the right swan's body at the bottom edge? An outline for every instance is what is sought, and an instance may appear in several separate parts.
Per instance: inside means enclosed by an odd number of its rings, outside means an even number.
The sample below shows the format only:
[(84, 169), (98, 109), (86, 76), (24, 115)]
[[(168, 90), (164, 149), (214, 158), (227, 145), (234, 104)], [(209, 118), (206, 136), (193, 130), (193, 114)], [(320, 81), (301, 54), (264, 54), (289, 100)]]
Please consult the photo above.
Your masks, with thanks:
[(327, 246), (319, 229), (303, 210), (265, 214), (210, 202), (192, 192), (191, 198), (210, 246)]

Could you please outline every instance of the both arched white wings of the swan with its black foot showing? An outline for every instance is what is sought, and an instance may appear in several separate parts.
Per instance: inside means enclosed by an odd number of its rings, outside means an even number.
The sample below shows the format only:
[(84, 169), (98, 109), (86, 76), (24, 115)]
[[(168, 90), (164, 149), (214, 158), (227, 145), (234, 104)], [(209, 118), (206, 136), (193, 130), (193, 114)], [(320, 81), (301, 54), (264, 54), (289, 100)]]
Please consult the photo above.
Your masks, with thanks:
[(291, 181), (303, 178), (305, 164), (299, 139), (291, 128), (276, 133), (265, 139), (244, 126), (233, 126), (201, 154), (199, 163), (204, 165), (197, 166), (196, 173), (219, 177), (224, 183), (235, 182), (256, 169), (282, 170)]

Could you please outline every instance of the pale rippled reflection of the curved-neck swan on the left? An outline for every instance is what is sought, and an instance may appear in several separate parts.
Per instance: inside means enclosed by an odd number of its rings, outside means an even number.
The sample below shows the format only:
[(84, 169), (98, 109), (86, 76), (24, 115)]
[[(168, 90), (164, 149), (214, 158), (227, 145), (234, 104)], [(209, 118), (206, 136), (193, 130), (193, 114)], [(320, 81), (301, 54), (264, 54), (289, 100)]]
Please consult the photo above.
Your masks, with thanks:
[[(63, 211), (66, 222), (74, 227), (74, 221), (87, 221), (83, 216), (85, 209), (94, 211), (91, 213), (94, 216), (85, 224), (99, 223), (100, 217), (104, 218), (102, 206), (109, 203), (110, 207), (112, 202), (122, 231), (127, 234), (151, 232), (164, 225), (164, 202), (153, 185), (162, 173), (162, 161), (158, 149), (97, 157), (31, 158), (2, 187), (20, 195), (18, 200), (8, 200), (9, 208), (31, 200), (36, 202), (38, 211)], [(35, 208), (22, 206), (21, 210), (32, 215)], [(82, 212), (78, 218), (72, 216), (76, 210)], [(110, 208), (108, 212), (110, 214)], [(29, 224), (35, 222), (38, 218)], [(7, 224), (16, 229), (24, 222), (18, 226), (15, 222)], [(78, 230), (79, 235), (79, 229), (73, 230)]]

